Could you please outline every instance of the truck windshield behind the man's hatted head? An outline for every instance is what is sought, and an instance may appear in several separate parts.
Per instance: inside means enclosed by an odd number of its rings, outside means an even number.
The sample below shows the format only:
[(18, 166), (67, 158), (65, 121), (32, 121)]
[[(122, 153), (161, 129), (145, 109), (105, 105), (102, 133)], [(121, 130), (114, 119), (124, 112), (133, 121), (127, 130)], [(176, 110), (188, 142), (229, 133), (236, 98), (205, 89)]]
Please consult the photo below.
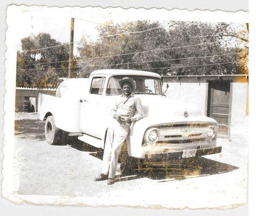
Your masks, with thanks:
[(119, 85), (119, 80), (129, 77), (136, 83), (134, 94), (147, 94), (147, 95), (163, 95), (161, 80), (155, 77), (145, 76), (113, 76), (109, 78), (106, 95), (121, 95), (122, 89)]

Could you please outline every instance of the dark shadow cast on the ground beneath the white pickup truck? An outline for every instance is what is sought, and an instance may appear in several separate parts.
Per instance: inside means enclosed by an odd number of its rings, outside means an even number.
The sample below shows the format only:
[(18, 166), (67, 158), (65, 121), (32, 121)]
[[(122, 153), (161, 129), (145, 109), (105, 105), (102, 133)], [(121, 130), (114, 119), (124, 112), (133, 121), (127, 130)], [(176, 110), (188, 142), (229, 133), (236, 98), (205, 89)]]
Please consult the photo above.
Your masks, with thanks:
[[(74, 142), (71, 147), (80, 151), (90, 152), (93, 157), (103, 158), (103, 150), (83, 142)], [(128, 181), (140, 178), (150, 178), (159, 182), (182, 180), (193, 177), (209, 176), (213, 174), (227, 173), (238, 167), (204, 157), (188, 158), (176, 161), (163, 161), (161, 163), (144, 162), (141, 170), (134, 170), (128, 174), (116, 176), (115, 181)]]

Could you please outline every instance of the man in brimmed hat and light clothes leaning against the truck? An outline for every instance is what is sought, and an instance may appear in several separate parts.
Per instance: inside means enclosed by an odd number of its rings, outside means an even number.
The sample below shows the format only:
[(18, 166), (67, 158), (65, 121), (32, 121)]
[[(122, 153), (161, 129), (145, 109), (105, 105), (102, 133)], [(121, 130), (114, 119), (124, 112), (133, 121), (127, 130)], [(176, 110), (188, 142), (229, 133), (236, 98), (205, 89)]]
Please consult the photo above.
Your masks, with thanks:
[(130, 123), (143, 118), (141, 100), (132, 95), (132, 91), (136, 87), (135, 81), (124, 77), (119, 81), (119, 84), (123, 94), (117, 98), (111, 110), (111, 115), (114, 119), (108, 127), (102, 173), (94, 179), (95, 181), (108, 179), (107, 183), (109, 185), (114, 184), (117, 161), (123, 142), (128, 136)]

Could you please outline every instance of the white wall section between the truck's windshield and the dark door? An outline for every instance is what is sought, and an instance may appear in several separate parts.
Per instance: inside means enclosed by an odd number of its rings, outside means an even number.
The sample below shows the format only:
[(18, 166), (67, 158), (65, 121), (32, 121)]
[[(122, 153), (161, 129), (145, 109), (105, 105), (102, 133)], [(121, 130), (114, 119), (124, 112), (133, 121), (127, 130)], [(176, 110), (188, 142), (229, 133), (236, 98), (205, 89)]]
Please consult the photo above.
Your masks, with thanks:
[[(163, 83), (166, 89), (167, 83)], [(168, 83), (166, 96), (199, 107), (202, 114), (207, 114), (208, 83)]]

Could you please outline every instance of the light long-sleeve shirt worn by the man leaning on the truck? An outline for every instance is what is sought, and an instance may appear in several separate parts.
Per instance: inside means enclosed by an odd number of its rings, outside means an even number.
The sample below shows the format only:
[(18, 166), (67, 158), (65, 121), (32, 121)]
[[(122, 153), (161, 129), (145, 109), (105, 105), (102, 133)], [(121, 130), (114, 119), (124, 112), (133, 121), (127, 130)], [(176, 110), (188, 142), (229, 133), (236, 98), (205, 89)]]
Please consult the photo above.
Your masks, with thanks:
[(118, 114), (121, 117), (130, 117), (132, 122), (143, 118), (143, 109), (140, 98), (130, 95), (127, 98), (121, 95), (111, 109), (111, 115)]

